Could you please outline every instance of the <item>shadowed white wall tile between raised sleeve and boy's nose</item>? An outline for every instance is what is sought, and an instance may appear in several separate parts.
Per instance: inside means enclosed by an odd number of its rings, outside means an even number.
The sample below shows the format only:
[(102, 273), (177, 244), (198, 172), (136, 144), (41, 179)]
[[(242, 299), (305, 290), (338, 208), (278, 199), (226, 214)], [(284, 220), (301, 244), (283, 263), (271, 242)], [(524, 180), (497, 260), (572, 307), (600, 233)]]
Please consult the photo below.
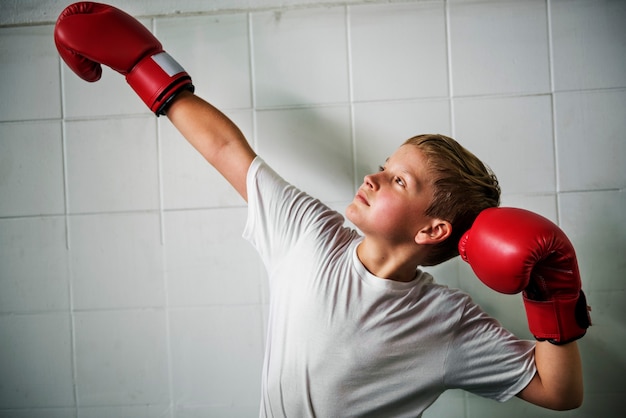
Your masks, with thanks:
[(353, 198), (348, 107), (261, 111), (257, 151), (287, 181), (323, 201)]

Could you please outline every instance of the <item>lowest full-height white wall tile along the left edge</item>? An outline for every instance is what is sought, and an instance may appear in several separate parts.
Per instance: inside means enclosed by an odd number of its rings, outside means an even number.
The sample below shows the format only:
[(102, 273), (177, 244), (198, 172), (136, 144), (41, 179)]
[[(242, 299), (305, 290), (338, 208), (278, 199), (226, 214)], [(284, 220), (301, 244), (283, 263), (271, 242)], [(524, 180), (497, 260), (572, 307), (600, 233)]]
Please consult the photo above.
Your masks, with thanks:
[(74, 404), (68, 314), (0, 315), (0, 409)]

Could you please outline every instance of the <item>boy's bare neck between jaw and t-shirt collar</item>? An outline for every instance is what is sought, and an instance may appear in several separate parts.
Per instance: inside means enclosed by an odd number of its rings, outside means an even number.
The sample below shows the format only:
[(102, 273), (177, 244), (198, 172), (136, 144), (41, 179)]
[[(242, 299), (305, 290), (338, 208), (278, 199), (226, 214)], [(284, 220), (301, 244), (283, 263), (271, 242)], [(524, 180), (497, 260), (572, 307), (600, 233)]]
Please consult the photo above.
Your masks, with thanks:
[(410, 282), (415, 278), (421, 257), (420, 247), (379, 245), (367, 237), (356, 251), (365, 268), (377, 277), (398, 282)]

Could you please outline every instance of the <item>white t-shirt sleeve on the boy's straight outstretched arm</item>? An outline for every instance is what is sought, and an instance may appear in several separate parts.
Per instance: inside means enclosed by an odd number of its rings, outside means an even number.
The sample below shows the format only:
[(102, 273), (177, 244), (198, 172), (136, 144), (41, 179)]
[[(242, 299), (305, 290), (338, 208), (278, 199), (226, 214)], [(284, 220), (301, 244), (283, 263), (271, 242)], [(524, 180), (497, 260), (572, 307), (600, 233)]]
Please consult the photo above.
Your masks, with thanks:
[(297, 242), (329, 224), (341, 226), (343, 217), (319, 200), (285, 181), (260, 157), (247, 176), (248, 217), (243, 232), (270, 266)]

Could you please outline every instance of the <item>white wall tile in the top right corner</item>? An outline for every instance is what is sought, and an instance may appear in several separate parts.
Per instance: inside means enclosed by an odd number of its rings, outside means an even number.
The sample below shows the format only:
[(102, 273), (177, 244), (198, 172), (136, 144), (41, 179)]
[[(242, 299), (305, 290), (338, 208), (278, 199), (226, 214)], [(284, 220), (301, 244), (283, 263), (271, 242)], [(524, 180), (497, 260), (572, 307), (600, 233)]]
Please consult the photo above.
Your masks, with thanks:
[(556, 90), (626, 86), (626, 3), (553, 0)]

